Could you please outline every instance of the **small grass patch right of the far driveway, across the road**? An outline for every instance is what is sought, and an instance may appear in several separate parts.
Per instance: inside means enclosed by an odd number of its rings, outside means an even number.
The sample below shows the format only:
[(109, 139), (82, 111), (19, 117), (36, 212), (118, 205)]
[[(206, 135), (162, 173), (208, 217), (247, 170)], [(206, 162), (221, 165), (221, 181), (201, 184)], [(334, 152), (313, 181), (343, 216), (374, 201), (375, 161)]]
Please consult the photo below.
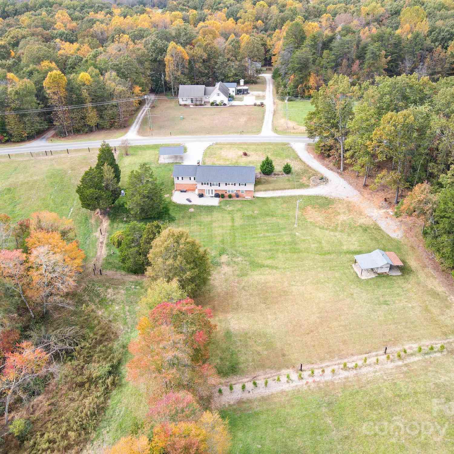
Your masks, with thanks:
[[(276, 92), (275, 92), (276, 96)], [(288, 103), (288, 122), (286, 122), (286, 103), (276, 99), (273, 116), (273, 129), (278, 134), (302, 134), (306, 132), (304, 120), (314, 110), (309, 101), (293, 101)], [(286, 126), (287, 124), (287, 126)]]

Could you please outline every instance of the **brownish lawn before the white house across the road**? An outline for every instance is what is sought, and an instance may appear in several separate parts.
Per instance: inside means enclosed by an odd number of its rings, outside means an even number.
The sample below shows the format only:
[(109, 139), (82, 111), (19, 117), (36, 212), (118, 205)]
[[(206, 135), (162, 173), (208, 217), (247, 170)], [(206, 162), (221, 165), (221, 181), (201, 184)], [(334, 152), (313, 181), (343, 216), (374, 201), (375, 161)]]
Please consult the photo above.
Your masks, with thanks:
[[(151, 109), (153, 137), (258, 134), (262, 130), (265, 110), (250, 106), (194, 108), (178, 105), (176, 99), (158, 99)], [(183, 119), (181, 117), (183, 116)], [(145, 116), (139, 133), (149, 136), (148, 119)]]

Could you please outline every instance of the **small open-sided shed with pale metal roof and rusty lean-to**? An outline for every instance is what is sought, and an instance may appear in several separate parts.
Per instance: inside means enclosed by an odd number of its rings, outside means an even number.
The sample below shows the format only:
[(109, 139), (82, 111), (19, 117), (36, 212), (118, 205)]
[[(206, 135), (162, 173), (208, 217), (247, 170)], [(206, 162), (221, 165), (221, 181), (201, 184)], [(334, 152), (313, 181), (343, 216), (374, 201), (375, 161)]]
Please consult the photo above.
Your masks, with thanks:
[(389, 274), (391, 276), (399, 276), (401, 273), (400, 267), (404, 266), (395, 252), (384, 252), (381, 249), (368, 254), (355, 255), (355, 263), (353, 269), (362, 279), (368, 279), (380, 274)]

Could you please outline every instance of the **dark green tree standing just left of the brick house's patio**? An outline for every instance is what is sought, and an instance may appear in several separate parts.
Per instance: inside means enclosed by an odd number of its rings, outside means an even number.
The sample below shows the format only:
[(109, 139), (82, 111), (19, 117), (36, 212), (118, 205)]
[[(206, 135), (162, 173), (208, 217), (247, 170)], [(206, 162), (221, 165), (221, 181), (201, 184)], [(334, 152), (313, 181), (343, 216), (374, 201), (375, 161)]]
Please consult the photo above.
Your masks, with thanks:
[(136, 219), (160, 219), (168, 215), (163, 189), (148, 164), (140, 164), (138, 170), (129, 174), (125, 206)]

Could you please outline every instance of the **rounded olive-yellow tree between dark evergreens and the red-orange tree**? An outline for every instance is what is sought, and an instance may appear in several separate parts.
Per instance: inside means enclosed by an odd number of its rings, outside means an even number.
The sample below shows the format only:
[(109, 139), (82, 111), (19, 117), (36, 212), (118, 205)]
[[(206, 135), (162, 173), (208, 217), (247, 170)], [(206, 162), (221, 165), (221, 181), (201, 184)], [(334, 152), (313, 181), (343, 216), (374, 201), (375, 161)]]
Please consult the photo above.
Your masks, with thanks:
[(148, 254), (150, 266), (145, 273), (151, 279), (162, 277), (167, 282), (177, 279), (189, 296), (208, 283), (211, 275), (210, 256), (185, 230), (168, 228), (153, 241)]

